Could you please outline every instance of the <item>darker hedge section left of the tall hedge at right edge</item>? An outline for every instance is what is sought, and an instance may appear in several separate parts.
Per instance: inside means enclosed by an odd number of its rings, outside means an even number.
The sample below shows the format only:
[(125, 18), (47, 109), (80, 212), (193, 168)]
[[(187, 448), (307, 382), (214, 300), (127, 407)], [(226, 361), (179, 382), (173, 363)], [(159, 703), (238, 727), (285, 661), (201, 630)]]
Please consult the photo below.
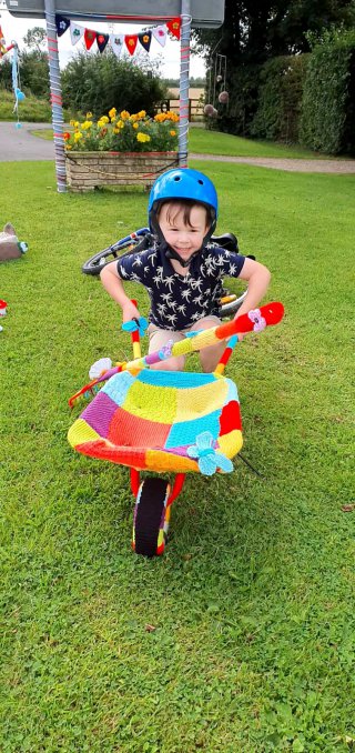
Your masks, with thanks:
[(268, 60), (261, 71), (257, 111), (251, 134), (258, 139), (298, 141), (303, 84), (307, 54)]

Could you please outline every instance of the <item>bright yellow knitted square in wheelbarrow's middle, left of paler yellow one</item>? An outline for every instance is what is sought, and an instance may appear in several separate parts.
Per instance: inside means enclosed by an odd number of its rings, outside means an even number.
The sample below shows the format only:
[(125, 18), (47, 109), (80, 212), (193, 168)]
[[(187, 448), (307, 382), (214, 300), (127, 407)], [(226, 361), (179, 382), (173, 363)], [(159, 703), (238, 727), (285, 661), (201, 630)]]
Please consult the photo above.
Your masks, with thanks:
[(140, 419), (173, 423), (176, 415), (176, 389), (153, 386), (136, 380), (130, 386), (122, 408)]

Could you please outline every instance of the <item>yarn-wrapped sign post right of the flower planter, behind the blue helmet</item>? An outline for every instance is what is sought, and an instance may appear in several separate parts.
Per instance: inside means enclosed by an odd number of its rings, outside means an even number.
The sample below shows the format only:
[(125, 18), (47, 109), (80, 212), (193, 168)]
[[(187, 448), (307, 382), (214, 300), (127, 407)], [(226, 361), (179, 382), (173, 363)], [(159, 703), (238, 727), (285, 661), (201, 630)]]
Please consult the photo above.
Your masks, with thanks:
[(181, 0), (179, 165), (187, 167), (191, 0)]

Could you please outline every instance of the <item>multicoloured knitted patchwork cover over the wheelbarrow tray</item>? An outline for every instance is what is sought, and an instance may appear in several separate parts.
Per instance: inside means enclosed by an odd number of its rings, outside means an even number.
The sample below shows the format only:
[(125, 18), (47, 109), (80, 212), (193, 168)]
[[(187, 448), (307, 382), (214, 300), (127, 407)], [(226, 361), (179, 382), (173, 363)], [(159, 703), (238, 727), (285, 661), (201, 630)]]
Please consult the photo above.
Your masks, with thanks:
[(122, 371), (112, 376), (73, 423), (68, 439), (78, 452), (92, 458), (184, 473), (200, 471), (195, 450), (206, 432), (220, 470), (219, 455), (222, 466), (222, 455), (234, 458), (243, 444), (234, 382), (214, 374), (143, 369), (136, 375)]

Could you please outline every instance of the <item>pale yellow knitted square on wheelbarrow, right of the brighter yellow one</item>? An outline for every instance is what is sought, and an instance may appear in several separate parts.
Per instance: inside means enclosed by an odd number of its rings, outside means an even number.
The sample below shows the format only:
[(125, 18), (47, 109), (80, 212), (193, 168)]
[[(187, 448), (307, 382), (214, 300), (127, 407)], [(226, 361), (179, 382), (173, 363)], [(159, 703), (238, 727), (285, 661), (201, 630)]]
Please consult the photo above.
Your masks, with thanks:
[(216, 380), (194, 389), (179, 390), (175, 421), (193, 421), (223, 408), (227, 392), (225, 380)]

